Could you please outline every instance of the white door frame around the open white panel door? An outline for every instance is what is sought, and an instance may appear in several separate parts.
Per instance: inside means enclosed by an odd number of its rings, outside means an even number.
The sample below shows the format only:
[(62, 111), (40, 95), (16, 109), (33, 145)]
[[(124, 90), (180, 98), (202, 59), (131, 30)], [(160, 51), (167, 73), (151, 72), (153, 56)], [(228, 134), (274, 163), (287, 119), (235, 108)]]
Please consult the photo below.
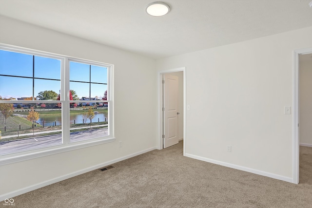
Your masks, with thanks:
[(157, 149), (162, 150), (163, 149), (163, 139), (162, 139), (162, 75), (166, 73), (172, 73), (172, 72), (183, 72), (183, 155), (185, 155), (185, 147), (186, 147), (186, 68), (185, 67), (179, 67), (174, 69), (167, 69), (162, 70), (158, 72), (158, 133), (157, 133)]

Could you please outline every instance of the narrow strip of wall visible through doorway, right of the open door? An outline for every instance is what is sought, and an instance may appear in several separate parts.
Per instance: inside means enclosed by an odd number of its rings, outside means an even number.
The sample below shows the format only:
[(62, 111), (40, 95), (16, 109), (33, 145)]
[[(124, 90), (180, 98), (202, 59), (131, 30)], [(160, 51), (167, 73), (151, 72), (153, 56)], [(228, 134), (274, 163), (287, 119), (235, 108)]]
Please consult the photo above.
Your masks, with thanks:
[(179, 140), (183, 139), (183, 72), (172, 72), (170, 75), (177, 76), (179, 78), (179, 86), (178, 86), (178, 138)]

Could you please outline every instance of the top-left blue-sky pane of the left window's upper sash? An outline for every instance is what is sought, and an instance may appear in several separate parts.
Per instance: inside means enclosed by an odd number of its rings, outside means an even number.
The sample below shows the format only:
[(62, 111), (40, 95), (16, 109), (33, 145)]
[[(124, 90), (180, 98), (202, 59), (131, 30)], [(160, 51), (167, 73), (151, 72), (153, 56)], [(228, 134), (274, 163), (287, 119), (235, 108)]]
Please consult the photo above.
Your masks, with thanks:
[(33, 77), (33, 56), (0, 50), (0, 75)]

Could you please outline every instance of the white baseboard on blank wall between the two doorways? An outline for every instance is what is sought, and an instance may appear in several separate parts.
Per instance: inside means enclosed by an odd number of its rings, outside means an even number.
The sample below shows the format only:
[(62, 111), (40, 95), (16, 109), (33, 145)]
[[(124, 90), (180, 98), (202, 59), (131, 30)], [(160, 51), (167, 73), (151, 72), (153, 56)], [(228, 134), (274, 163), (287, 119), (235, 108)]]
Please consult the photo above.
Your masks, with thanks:
[(231, 163), (225, 163), (225, 162), (221, 162), (221, 161), (218, 161), (218, 160), (213, 160), (213, 159), (209, 159), (209, 158), (205, 158), (205, 157), (201, 157), (201, 156), (196, 156), (196, 155), (193, 155), (193, 154), (186, 153), (185, 156), (191, 157), (191, 158), (194, 158), (194, 159), (197, 159), (197, 160), (202, 160), (202, 161), (205, 161), (205, 162), (213, 163), (213, 164), (216, 164), (216, 165), (221, 165), (221, 166), (225, 166), (225, 167), (233, 168), (233, 169), (237, 169), (237, 170), (243, 170), (243, 171), (246, 171), (246, 172), (251, 172), (251, 173), (258, 174), (258, 175), (263, 175), (263, 176), (267, 176), (267, 177), (270, 177), (270, 178), (274, 178), (274, 179), (278, 179), (278, 180), (282, 180), (282, 181), (287, 181), (287, 182), (293, 183), (293, 179), (290, 178), (290, 177), (285, 177), (285, 176), (282, 176), (282, 175), (277, 175), (277, 174), (270, 173), (270, 172), (265, 172), (265, 171), (262, 171), (262, 170), (255, 170), (255, 169), (251, 169), (251, 168), (247, 168), (247, 167), (243, 167), (243, 166), (238, 166), (238, 165), (234, 165), (234, 164), (231, 164)]

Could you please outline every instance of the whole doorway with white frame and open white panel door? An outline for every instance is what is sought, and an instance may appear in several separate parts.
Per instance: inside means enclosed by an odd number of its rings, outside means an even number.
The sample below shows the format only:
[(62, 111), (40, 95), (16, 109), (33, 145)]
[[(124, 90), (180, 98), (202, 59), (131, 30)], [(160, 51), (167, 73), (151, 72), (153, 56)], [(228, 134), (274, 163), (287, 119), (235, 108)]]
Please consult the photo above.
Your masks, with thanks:
[[(181, 68), (164, 70), (164, 71), (158, 72), (158, 138), (159, 138), (158, 149), (159, 150), (166, 148), (172, 144), (175, 144), (179, 140), (183, 139), (183, 154), (185, 154), (185, 145), (186, 145), (186, 137), (185, 137), (186, 72), (185, 71), (186, 71), (185, 67), (181, 67)], [(167, 81), (165, 79), (167, 79)], [(175, 89), (175, 86), (178, 89), (176, 95), (174, 95), (175, 93), (173, 90)], [(173, 105), (173, 103), (175, 103), (174, 100), (177, 101), (177, 106)], [(168, 101), (170, 102), (168, 103)], [(165, 108), (166, 105), (167, 107)], [(168, 105), (171, 105), (171, 106), (168, 106)], [(168, 132), (168, 128), (171, 128), (169, 132)], [(164, 142), (164, 139), (166, 139), (165, 142)]]

